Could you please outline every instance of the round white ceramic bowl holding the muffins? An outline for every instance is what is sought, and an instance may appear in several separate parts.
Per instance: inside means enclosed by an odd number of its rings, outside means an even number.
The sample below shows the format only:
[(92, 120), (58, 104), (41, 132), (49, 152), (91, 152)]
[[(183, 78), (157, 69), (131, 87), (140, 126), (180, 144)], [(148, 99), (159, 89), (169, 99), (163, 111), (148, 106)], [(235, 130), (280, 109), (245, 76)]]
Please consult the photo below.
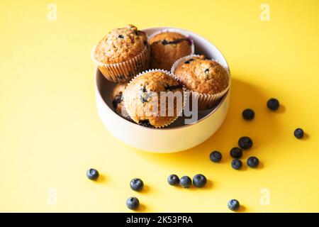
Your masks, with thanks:
[[(169, 28), (147, 28), (143, 31), (150, 35), (162, 29)], [(225, 57), (212, 43), (201, 35), (190, 31), (181, 31), (188, 33), (194, 40), (196, 54), (203, 54), (217, 60), (226, 70), (229, 70)], [(226, 93), (213, 109), (200, 111), (196, 123), (186, 125), (184, 119), (179, 118), (168, 128), (146, 128), (126, 121), (113, 111), (110, 99), (114, 87), (113, 82), (105, 79), (98, 69), (96, 69), (94, 79), (96, 106), (104, 126), (118, 140), (140, 150), (154, 153), (173, 153), (193, 148), (210, 138), (218, 130), (228, 112), (230, 92)]]

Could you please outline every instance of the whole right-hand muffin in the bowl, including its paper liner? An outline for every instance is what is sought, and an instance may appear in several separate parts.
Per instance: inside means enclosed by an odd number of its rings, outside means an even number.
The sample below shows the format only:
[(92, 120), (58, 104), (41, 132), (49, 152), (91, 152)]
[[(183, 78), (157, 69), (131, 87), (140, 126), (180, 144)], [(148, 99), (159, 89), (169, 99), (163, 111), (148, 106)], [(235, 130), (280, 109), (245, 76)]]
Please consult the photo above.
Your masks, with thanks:
[(228, 91), (230, 75), (218, 62), (204, 55), (189, 55), (174, 63), (172, 73), (193, 96), (198, 109), (210, 109)]

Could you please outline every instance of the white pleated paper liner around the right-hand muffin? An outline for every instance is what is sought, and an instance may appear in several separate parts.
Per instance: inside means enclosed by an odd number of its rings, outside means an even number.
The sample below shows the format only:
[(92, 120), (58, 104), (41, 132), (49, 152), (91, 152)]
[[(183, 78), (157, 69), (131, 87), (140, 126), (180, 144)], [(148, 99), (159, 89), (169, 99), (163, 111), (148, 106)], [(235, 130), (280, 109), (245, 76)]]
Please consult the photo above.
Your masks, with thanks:
[[(187, 55), (185, 57), (179, 58), (179, 60), (174, 62), (172, 69), (171, 69), (171, 73), (173, 74), (174, 79), (176, 79), (178, 82), (181, 83), (181, 81), (175, 75), (175, 70), (179, 66), (179, 64), (181, 64), (181, 62), (185, 62), (186, 60), (189, 60), (192, 57), (199, 57), (199, 56), (201, 56), (201, 55)], [(213, 61), (218, 62), (217, 60), (213, 60)], [(220, 63), (218, 62), (218, 64), (220, 64)], [(230, 78), (230, 71), (226, 70), (226, 72), (228, 72), (228, 87), (226, 87), (222, 92), (219, 92), (217, 94), (205, 94), (205, 93), (192, 91), (190, 89), (186, 89), (186, 91), (189, 92), (190, 97), (194, 96), (197, 98), (198, 110), (211, 109), (215, 104), (218, 103), (220, 98), (222, 98), (223, 95), (226, 94), (226, 92), (228, 92), (228, 89), (230, 88), (231, 78)]]

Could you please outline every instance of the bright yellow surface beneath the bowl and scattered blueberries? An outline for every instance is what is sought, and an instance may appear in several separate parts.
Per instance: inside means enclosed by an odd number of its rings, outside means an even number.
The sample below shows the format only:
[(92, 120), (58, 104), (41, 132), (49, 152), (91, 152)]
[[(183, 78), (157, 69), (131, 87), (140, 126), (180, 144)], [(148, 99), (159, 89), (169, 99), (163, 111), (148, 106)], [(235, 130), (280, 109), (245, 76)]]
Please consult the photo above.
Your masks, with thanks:
[[(0, 1), (0, 211), (319, 211), (319, 1)], [(57, 6), (49, 21), (48, 5)], [(50, 15), (49, 15), (50, 18)], [(233, 74), (230, 110), (220, 130), (196, 148), (143, 153), (106, 131), (94, 102), (91, 48), (111, 28), (185, 28), (211, 40)], [(270, 97), (281, 109), (269, 111)], [(256, 117), (242, 120), (250, 107)], [(296, 140), (293, 130), (308, 135)], [(230, 167), (241, 135), (257, 170)], [(145, 141), (147, 143), (147, 141)], [(212, 150), (223, 162), (208, 159)], [(86, 179), (96, 167), (99, 182)], [(167, 176), (203, 173), (204, 189), (170, 187)], [(133, 177), (143, 192), (130, 190)], [(261, 190), (269, 191), (262, 205)], [(53, 198), (53, 201), (52, 201)], [(55, 203), (56, 198), (56, 203)], [(266, 194), (267, 199), (267, 194)]]

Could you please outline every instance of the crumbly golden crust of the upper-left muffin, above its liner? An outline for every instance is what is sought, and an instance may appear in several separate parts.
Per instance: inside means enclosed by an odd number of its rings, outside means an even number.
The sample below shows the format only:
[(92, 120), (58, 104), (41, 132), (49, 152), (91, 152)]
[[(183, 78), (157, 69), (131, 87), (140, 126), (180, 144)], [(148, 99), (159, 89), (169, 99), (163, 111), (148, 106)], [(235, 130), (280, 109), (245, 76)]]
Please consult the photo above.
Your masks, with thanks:
[(148, 48), (147, 36), (133, 25), (116, 28), (96, 45), (94, 58), (104, 64), (130, 60)]

